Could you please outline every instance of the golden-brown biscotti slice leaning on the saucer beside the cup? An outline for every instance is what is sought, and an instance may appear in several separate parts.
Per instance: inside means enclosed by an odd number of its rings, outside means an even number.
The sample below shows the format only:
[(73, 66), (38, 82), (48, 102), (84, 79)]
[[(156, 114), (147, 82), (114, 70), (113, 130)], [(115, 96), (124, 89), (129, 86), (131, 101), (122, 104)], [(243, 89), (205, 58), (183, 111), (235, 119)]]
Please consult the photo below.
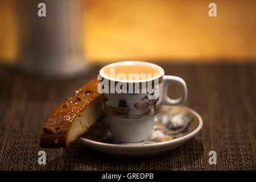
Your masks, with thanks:
[(96, 78), (90, 80), (52, 112), (41, 131), (40, 147), (69, 147), (103, 116), (97, 85)]

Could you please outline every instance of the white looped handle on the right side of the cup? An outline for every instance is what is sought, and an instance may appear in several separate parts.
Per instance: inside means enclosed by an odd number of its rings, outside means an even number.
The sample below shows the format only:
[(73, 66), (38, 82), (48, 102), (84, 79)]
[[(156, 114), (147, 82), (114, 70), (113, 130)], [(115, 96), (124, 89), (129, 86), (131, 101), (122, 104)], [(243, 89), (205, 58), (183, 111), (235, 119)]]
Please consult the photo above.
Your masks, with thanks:
[[(167, 96), (168, 86), (173, 82), (179, 84), (182, 90), (182, 96), (176, 100), (172, 100), (170, 97)], [(163, 101), (162, 101), (163, 105), (168, 105), (168, 106), (181, 105), (183, 104), (183, 102), (185, 102), (185, 100), (187, 100), (187, 95), (188, 95), (187, 85), (182, 78), (177, 76), (170, 76), (170, 75), (163, 76)]]

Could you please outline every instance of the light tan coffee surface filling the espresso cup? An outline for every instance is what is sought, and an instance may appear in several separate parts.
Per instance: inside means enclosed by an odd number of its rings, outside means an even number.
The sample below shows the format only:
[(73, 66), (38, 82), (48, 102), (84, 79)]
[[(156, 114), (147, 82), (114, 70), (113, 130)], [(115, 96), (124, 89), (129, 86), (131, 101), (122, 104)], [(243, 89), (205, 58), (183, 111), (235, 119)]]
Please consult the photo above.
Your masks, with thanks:
[(117, 65), (105, 67), (104, 73), (113, 79), (118, 80), (146, 80), (159, 75), (159, 70), (143, 64)]

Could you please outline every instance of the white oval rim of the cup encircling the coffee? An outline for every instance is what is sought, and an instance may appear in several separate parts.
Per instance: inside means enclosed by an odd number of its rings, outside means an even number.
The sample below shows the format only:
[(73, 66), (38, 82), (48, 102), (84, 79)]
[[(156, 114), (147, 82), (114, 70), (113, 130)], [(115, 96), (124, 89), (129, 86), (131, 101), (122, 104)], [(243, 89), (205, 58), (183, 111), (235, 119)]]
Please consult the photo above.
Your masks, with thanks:
[[(114, 79), (114, 78), (110, 78), (108, 75), (106, 75), (104, 73), (104, 68), (106, 68), (106, 67), (116, 66), (116, 65), (133, 65), (133, 64), (135, 64), (135, 65), (148, 65), (150, 67), (154, 67), (154, 68), (159, 70), (159, 75), (155, 76), (155, 77), (152, 77), (152, 78), (148, 78), (146, 80), (117, 80), (117, 79)], [(106, 78), (107, 80), (110, 80), (110, 81), (118, 81), (118, 82), (123, 82), (123, 83), (148, 82), (148, 81), (156, 80), (156, 79), (162, 77), (163, 75), (164, 75), (164, 70), (163, 70), (162, 67), (160, 67), (157, 64), (150, 63), (150, 62), (147, 62), (147, 61), (118, 61), (118, 62), (115, 62), (115, 63), (105, 65), (104, 67), (102, 67), (100, 69), (100, 76), (101, 77)]]

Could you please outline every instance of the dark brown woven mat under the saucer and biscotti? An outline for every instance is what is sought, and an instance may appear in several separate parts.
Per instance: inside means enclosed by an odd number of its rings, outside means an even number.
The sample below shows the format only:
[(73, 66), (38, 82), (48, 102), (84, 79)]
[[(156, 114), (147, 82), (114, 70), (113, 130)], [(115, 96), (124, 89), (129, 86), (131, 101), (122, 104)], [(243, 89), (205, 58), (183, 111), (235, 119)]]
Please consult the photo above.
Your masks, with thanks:
[[(49, 114), (90, 78), (100, 65), (79, 78), (24, 74), (0, 66), (1, 170), (255, 170), (256, 64), (160, 64), (166, 75), (183, 77), (184, 105), (204, 119), (195, 138), (167, 154), (151, 158), (115, 158), (75, 142), (68, 149), (43, 149), (39, 135)], [(179, 96), (178, 88), (171, 93)], [(38, 151), (47, 164), (38, 164)], [(217, 152), (210, 165), (209, 151)]]

